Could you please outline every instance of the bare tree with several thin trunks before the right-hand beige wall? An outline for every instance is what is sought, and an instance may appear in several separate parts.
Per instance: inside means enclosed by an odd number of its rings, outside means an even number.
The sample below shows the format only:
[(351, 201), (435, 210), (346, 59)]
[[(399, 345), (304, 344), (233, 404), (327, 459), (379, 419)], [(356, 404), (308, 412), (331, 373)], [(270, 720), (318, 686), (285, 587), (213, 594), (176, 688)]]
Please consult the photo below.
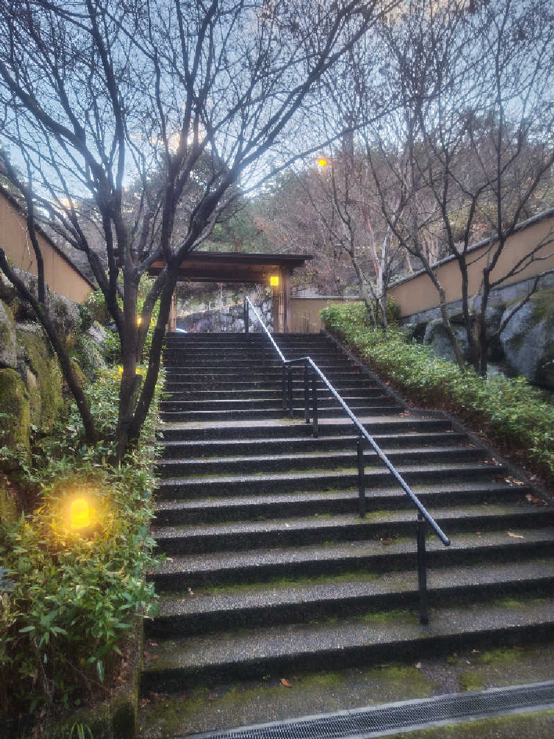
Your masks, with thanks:
[[(545, 0), (492, 0), (471, 7), (421, 0), (380, 30), (391, 60), (389, 95), (399, 102), (401, 125), (385, 132), (374, 127), (372, 135), (404, 188), (406, 214), (411, 212), (411, 222), (402, 219), (394, 231), (436, 287), (443, 323), (463, 367), (422, 234), (435, 234), (456, 260), (471, 362), (485, 374), (490, 342), (540, 279), (492, 329), (486, 320), (490, 293), (545, 259), (551, 240), (532, 245), (516, 265), (499, 271), (519, 222), (553, 202), (547, 184), (554, 163), (553, 11)], [(382, 204), (392, 222), (384, 197)], [(489, 239), (488, 258), (479, 287), (472, 289), (470, 248), (483, 236)]]

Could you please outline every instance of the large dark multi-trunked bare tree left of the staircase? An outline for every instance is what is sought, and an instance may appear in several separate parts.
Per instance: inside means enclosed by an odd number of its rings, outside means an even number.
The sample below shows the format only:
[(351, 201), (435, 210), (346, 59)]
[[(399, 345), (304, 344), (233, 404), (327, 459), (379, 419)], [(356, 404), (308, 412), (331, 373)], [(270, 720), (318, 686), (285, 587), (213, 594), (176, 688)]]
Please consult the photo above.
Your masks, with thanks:
[[(14, 0), (1, 7), (0, 137), (27, 170), (14, 183), (31, 226), (47, 219), (86, 254), (120, 336), (117, 460), (151, 403), (182, 259), (208, 236), (241, 177), (267, 176), (267, 151), (382, 10), (361, 0)], [(207, 176), (198, 186), (201, 161)], [(134, 208), (123, 197), (131, 180), (140, 182)], [(185, 227), (177, 229), (177, 210), (192, 191)], [(83, 228), (85, 201), (94, 204), (107, 270)], [(140, 277), (156, 259), (165, 268), (137, 325)], [(52, 336), (44, 276), (35, 298), (1, 251), (0, 267), (35, 307), (78, 398), (64, 347)], [(137, 360), (157, 301), (141, 383)], [(86, 401), (78, 403), (94, 442)]]

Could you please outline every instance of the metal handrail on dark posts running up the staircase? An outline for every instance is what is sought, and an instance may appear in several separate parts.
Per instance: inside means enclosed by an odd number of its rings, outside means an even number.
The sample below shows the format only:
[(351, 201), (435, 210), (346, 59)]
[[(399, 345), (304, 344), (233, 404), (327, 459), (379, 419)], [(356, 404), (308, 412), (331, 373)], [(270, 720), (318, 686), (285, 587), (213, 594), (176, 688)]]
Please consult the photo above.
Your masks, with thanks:
[(397, 483), (400, 485), (400, 487), (403, 489), (403, 491), (408, 496), (409, 500), (411, 500), (411, 503), (414, 505), (414, 507), (417, 509), (417, 531), (416, 531), (416, 538), (417, 538), (417, 575), (418, 575), (418, 585), (419, 585), (419, 592), (420, 592), (420, 621), (422, 624), (428, 624), (428, 600), (427, 600), (427, 559), (426, 559), (426, 549), (425, 549), (425, 525), (431, 526), (432, 531), (434, 531), (434, 534), (440, 539), (442, 544), (444, 544), (446, 547), (450, 546), (451, 540), (446, 536), (444, 531), (442, 531), (442, 528), (437, 524), (437, 522), (434, 520), (434, 518), (431, 516), (431, 514), (426, 510), (425, 506), (417, 495), (414, 494), (413, 491), (411, 491), (411, 488), (408, 486), (408, 483), (406, 483), (406, 480), (403, 479), (400, 472), (396, 469), (393, 463), (391, 463), (391, 460), (389, 460), (389, 457), (384, 454), (384, 452), (380, 449), (380, 446), (377, 444), (375, 439), (372, 437), (371, 434), (367, 431), (367, 429), (363, 426), (362, 423), (360, 423), (360, 420), (356, 418), (354, 413), (352, 413), (352, 410), (349, 408), (349, 406), (343, 401), (343, 398), (341, 398), (341, 395), (337, 392), (337, 390), (332, 386), (332, 384), (329, 382), (329, 380), (326, 378), (323, 372), (321, 372), (321, 369), (319, 369), (318, 365), (315, 364), (315, 362), (312, 360), (311, 357), (305, 356), (305, 357), (298, 357), (295, 359), (285, 359), (283, 353), (278, 348), (276, 342), (273, 340), (273, 336), (271, 336), (269, 330), (267, 330), (267, 327), (264, 324), (264, 321), (261, 320), (258, 312), (256, 311), (256, 308), (253, 307), (253, 304), (250, 302), (248, 298), (244, 298), (244, 330), (246, 333), (248, 323), (249, 323), (249, 308), (253, 310), (253, 312), (256, 315), (256, 319), (258, 319), (259, 324), (261, 325), (264, 332), (267, 334), (268, 338), (270, 339), (271, 343), (273, 344), (273, 347), (276, 349), (279, 358), (281, 359), (283, 363), (283, 409), (288, 412), (288, 415), (290, 418), (293, 418), (294, 416), (294, 406), (293, 406), (293, 367), (297, 364), (304, 364), (304, 419), (306, 420), (306, 423), (312, 424), (312, 434), (314, 437), (318, 437), (319, 434), (319, 420), (318, 420), (318, 378), (323, 382), (324, 386), (329, 390), (331, 395), (335, 398), (336, 401), (341, 405), (343, 411), (346, 413), (346, 415), (349, 417), (350, 420), (352, 420), (352, 423), (354, 423), (356, 429), (358, 430), (358, 439), (356, 441), (356, 456), (358, 460), (358, 505), (359, 505), (359, 512), (360, 516), (364, 517), (366, 514), (366, 484), (365, 484), (365, 466), (364, 466), (364, 459), (363, 459), (363, 444), (364, 441), (368, 442), (372, 449), (374, 449), (375, 453), (377, 454), (377, 457), (381, 460), (381, 462), (386, 466), (386, 468), (389, 470), (389, 472), (393, 475), (394, 479), (397, 481)]

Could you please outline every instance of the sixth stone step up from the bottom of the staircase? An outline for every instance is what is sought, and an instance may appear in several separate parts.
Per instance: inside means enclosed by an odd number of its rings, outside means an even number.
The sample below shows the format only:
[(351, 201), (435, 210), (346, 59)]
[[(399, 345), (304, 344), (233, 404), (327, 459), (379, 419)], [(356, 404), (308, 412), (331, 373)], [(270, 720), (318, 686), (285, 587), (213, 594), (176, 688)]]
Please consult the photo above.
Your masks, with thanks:
[[(501, 465), (479, 463), (442, 463), (431, 465), (402, 465), (398, 471), (408, 485), (447, 483), (451, 480), (490, 480), (505, 476)], [(366, 490), (395, 486), (388, 469), (370, 469), (365, 474)], [(298, 471), (281, 474), (221, 475), (220, 477), (169, 477), (160, 480), (157, 495), (160, 499), (206, 496), (267, 495), (309, 490), (343, 490), (358, 485), (355, 474), (341, 471)]]

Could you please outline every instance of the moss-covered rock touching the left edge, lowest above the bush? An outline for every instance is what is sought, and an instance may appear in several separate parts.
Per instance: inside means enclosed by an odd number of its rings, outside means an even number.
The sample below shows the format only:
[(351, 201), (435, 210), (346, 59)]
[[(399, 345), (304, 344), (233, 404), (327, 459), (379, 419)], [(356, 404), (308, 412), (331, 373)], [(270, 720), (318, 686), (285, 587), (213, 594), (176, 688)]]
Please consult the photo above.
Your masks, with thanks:
[(30, 449), (30, 403), (27, 388), (15, 369), (0, 369), (0, 446), (11, 452)]

